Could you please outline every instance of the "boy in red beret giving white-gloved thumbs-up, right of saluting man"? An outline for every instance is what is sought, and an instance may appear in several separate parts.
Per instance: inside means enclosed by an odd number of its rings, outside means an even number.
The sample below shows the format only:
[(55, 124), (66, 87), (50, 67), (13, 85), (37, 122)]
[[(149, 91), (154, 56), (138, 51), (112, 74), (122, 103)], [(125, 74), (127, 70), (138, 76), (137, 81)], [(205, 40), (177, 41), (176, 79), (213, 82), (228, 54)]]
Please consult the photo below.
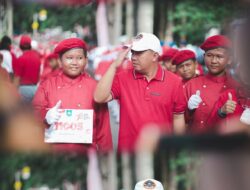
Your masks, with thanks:
[(185, 85), (191, 132), (207, 132), (207, 119), (219, 95), (236, 82), (227, 74), (226, 68), (232, 61), (231, 42), (223, 35), (209, 37), (200, 46), (205, 51), (204, 61), (208, 74), (190, 80)]

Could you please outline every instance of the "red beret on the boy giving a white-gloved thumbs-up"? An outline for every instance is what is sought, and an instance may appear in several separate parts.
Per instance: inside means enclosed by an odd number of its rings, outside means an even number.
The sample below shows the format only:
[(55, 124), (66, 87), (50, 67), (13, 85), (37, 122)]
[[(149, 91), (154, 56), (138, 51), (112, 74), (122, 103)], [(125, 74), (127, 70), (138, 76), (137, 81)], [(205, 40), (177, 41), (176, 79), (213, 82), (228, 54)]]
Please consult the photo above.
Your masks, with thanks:
[(231, 41), (223, 35), (215, 35), (207, 38), (200, 48), (204, 51), (215, 49), (218, 47), (230, 49), (232, 46)]

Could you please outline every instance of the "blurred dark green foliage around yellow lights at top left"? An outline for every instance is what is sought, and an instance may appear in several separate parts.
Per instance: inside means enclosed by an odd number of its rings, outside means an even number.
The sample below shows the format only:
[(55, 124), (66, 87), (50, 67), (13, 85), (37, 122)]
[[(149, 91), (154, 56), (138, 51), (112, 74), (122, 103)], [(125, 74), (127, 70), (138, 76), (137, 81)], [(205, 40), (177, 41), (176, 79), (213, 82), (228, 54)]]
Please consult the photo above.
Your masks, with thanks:
[(95, 31), (95, 5), (46, 7), (42, 4), (28, 3), (14, 5), (14, 32), (32, 32), (33, 15), (41, 9), (47, 10), (47, 19), (39, 21), (39, 32), (46, 28), (62, 26), (63, 30), (73, 30), (75, 24), (90, 26)]

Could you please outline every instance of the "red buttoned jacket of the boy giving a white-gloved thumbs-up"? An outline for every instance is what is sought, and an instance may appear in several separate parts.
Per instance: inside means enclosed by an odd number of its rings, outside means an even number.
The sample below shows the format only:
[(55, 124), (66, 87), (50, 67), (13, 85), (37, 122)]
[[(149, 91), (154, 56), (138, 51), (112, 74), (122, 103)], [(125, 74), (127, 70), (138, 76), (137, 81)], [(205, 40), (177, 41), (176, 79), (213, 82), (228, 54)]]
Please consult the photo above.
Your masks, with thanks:
[(216, 77), (211, 74), (191, 79), (186, 83), (185, 93), (187, 101), (197, 90), (200, 90), (200, 97), (202, 99), (197, 109), (194, 111), (188, 110), (190, 114), (189, 118), (191, 118), (189, 121), (191, 132), (200, 133), (209, 130), (207, 119), (220, 94), (226, 89), (233, 88), (236, 85), (236, 81), (228, 75)]

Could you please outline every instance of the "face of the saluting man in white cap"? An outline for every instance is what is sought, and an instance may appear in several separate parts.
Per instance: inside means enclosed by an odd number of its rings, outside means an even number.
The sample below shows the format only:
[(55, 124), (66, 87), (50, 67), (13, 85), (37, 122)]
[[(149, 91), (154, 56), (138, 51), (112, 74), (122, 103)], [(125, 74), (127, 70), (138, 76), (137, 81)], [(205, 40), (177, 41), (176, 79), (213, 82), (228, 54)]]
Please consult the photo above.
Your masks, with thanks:
[(131, 51), (133, 67), (139, 73), (147, 73), (158, 60), (158, 54), (151, 50)]

